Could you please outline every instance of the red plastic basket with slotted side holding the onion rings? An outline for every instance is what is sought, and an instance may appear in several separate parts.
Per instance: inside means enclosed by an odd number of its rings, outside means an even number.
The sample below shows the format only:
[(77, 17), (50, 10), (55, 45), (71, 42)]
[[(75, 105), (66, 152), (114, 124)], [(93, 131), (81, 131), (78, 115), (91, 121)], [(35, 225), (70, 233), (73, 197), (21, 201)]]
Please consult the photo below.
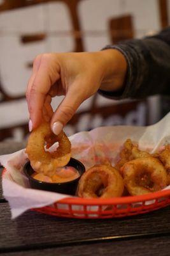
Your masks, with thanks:
[(170, 205), (170, 189), (146, 195), (110, 199), (65, 198), (52, 205), (32, 210), (66, 218), (97, 219), (142, 214), (167, 205)]

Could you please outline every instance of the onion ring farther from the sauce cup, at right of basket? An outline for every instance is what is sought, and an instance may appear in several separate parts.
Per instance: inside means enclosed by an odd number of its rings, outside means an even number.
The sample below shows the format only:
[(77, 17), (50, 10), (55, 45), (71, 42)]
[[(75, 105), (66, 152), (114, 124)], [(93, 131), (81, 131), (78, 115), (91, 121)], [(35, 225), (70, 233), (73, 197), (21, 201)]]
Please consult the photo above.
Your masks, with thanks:
[(124, 184), (131, 195), (159, 191), (167, 186), (167, 173), (154, 157), (138, 158), (122, 167)]

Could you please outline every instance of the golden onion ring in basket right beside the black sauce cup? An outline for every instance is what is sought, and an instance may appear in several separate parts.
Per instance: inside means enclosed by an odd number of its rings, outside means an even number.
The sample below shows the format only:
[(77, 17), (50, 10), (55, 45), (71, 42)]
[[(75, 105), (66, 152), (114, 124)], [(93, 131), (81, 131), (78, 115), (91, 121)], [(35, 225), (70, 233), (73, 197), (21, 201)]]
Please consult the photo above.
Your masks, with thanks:
[(111, 198), (123, 192), (122, 176), (108, 164), (94, 165), (83, 173), (78, 184), (78, 196), (83, 198)]

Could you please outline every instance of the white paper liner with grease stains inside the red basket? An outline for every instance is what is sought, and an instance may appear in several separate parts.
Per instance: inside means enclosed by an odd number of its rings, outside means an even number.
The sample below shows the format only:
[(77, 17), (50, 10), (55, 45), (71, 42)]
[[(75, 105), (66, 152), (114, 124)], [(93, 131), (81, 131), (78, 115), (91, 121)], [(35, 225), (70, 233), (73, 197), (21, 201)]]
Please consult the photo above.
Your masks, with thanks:
[[(170, 143), (169, 127), (170, 113), (157, 124), (148, 127), (111, 126), (99, 127), (90, 132), (78, 132), (69, 138), (72, 145), (71, 155), (80, 160), (86, 169), (102, 163), (104, 159), (110, 160), (114, 166), (127, 138), (138, 142), (141, 150), (154, 153)], [(3, 175), (3, 196), (10, 204), (12, 218), (16, 218), (28, 209), (51, 205), (63, 198), (72, 197), (29, 188), (28, 179), (23, 173), (23, 166), (27, 161), (25, 149), (0, 156), (0, 162), (7, 170)], [(170, 186), (166, 189), (170, 189)], [(146, 204), (153, 204), (153, 200)], [(88, 209), (98, 211), (96, 206), (89, 206)]]

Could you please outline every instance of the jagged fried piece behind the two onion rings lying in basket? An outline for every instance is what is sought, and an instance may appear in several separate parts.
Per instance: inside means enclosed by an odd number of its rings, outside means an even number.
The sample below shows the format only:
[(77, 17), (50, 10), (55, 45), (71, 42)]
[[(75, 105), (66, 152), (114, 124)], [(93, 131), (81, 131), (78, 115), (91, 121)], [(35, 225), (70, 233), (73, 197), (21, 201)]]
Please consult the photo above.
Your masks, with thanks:
[(124, 143), (124, 148), (120, 152), (120, 160), (115, 165), (115, 168), (120, 171), (125, 163), (133, 159), (150, 156), (148, 152), (139, 150), (138, 145), (134, 145), (130, 139), (127, 139)]

